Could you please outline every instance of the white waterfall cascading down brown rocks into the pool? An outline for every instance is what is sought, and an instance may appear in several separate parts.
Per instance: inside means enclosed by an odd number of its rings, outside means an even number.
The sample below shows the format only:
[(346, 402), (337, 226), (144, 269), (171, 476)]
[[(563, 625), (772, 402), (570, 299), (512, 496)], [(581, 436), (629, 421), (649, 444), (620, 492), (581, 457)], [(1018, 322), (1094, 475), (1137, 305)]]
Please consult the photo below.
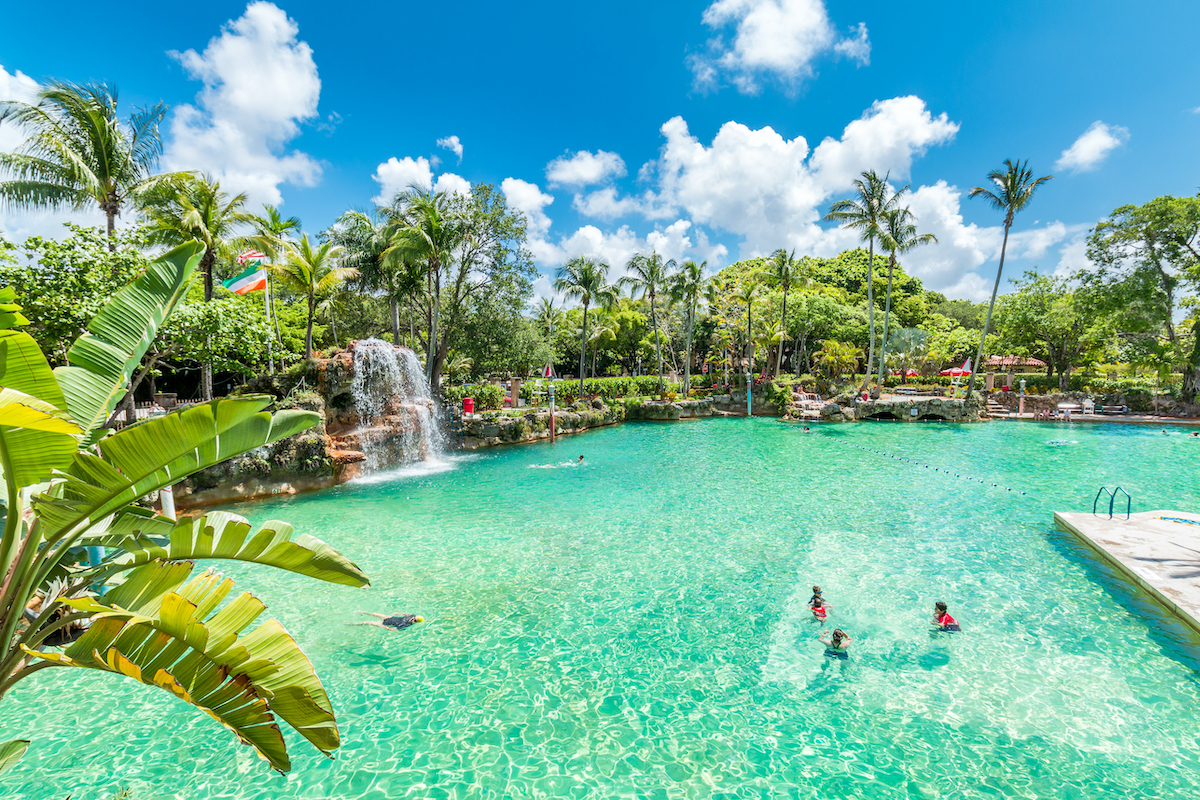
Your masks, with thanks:
[(438, 407), (416, 354), (382, 339), (354, 345), (350, 395), (364, 471), (436, 461), (445, 450)]

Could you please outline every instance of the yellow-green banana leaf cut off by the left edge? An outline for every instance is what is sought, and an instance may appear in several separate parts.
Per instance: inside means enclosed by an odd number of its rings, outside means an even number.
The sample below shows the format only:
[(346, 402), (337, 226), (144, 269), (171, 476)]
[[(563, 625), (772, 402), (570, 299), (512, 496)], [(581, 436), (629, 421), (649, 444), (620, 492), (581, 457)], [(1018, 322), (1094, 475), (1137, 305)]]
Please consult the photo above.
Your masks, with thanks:
[(79, 428), (37, 342), (0, 330), (0, 469), (17, 486), (40, 483), (71, 463)]

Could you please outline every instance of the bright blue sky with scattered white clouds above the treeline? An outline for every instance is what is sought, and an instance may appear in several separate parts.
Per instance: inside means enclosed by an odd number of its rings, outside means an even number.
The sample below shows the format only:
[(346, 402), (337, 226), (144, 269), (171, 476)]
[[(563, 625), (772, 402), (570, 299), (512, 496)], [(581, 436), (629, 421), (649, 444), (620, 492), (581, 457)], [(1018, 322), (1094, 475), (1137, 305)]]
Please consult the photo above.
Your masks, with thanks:
[[(492, 182), (530, 217), (546, 275), (581, 253), (619, 272), (650, 246), (710, 266), (780, 246), (836, 253), (853, 237), (820, 217), (878, 169), (912, 185), (919, 227), (940, 239), (908, 269), (979, 299), (1001, 219), (966, 192), (1003, 158), (1056, 175), (1018, 217), (1009, 275), (1081, 266), (1082, 237), (1114, 207), (1200, 185), (1194, 2), (277, 0), (4, 16), (0, 98), (59, 78), (112, 80), (131, 108), (166, 101), (166, 166), (282, 203), (311, 231), (413, 181)], [(0, 128), (0, 148), (17, 142)], [(20, 239), (64, 216), (0, 211), (0, 229)]]

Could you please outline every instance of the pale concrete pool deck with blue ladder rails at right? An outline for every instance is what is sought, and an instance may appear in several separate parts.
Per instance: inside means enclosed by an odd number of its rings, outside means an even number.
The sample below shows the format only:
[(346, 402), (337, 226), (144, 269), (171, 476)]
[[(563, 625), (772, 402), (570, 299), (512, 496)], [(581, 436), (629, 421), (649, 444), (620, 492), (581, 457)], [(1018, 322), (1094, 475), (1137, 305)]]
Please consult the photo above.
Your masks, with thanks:
[(1108, 519), (1056, 511), (1054, 519), (1200, 633), (1200, 515), (1141, 511)]

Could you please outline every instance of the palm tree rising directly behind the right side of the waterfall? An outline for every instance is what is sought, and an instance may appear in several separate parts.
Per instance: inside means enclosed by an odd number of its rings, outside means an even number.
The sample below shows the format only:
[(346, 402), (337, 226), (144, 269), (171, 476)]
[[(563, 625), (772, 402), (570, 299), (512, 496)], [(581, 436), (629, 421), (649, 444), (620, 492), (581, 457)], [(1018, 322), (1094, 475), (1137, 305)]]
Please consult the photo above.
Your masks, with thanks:
[[(458, 225), (450, 210), (445, 192), (410, 190), (401, 194), (390, 209), (383, 210), (391, 219), (390, 245), (383, 253), (384, 265), (425, 264), (428, 293), (428, 332), (425, 378), (430, 385), (438, 381), (444, 342), (438, 339), (438, 313), (442, 301), (442, 271), (448, 266), (454, 248), (462, 241)], [(444, 337), (443, 337), (444, 338)]]

